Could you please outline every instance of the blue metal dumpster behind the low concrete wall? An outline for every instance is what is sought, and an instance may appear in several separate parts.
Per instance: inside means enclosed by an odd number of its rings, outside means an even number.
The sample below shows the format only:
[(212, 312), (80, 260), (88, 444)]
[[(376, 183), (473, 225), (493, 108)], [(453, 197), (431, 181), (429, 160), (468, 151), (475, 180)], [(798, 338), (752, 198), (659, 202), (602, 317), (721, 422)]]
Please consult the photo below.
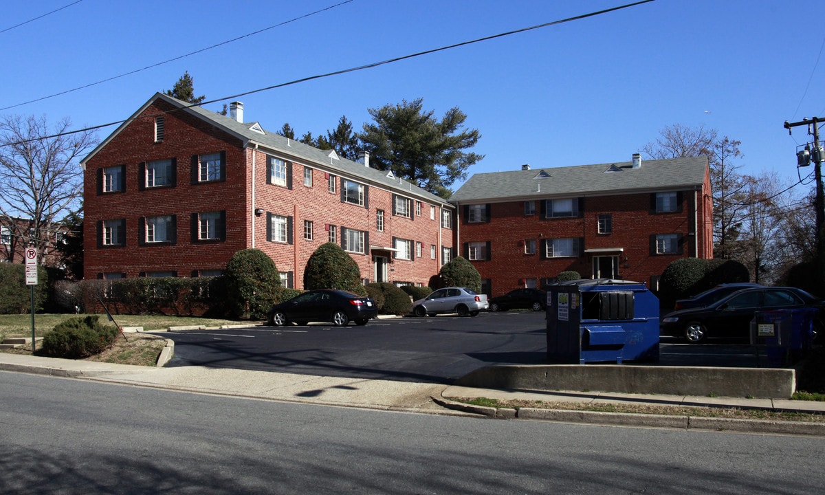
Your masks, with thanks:
[(612, 279), (549, 285), (547, 359), (563, 364), (658, 361), (659, 302), (643, 283)]

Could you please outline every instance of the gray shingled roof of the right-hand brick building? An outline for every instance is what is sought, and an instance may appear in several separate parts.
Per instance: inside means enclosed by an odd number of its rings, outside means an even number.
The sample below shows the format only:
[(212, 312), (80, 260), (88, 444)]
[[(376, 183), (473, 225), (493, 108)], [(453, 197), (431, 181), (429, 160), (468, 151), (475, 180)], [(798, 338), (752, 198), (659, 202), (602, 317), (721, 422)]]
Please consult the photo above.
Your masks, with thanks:
[(618, 162), (477, 173), (450, 196), (450, 202), (696, 189), (705, 183), (707, 167), (707, 158), (691, 157), (643, 160), (639, 168)]

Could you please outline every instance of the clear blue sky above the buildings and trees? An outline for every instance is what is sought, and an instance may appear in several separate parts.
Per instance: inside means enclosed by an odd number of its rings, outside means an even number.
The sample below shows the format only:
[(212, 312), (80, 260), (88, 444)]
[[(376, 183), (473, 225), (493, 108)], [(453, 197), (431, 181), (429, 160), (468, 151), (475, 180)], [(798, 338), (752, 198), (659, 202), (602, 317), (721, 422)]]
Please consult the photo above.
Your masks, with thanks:
[[(0, 107), (159, 64), (343, 0), (69, 5), (74, 1), (4, 2)], [(186, 70), (196, 93), (213, 100), (626, 3), (352, 0), (0, 113), (100, 125), (127, 118)], [(474, 151), (486, 155), (470, 174), (523, 163), (629, 161), (667, 125), (705, 125), (742, 141), (742, 172), (775, 171), (790, 182), (797, 145), (808, 136), (801, 127), (789, 136), (783, 122), (825, 117), (823, 14), (821, 0), (655, 0), (238, 99), (247, 121), (267, 130), (288, 122), (296, 134), (314, 135), (342, 115), (360, 129), (370, 121), (368, 108), (405, 99), (422, 97), (438, 117), (458, 106), (466, 125), (482, 134)], [(99, 138), (114, 129), (97, 131)]]

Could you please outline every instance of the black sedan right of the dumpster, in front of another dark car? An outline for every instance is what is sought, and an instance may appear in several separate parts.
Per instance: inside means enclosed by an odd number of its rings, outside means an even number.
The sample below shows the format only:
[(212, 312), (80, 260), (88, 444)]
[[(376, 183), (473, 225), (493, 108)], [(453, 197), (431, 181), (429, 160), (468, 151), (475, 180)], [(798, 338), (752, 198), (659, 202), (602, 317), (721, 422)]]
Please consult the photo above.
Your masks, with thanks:
[(680, 309), (659, 322), (662, 335), (704, 342), (708, 337), (750, 338), (751, 320), (757, 311), (816, 308), (814, 331), (822, 332), (825, 301), (795, 287), (741, 289), (705, 308)]

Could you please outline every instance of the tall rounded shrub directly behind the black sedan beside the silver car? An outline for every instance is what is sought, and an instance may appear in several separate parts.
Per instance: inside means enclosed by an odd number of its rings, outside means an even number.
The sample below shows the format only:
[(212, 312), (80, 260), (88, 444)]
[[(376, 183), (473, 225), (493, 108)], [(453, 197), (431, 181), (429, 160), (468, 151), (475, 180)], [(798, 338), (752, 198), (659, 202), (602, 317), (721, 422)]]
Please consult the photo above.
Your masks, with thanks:
[(366, 295), (358, 263), (336, 243), (324, 243), (312, 253), (304, 270), (304, 289), (349, 290)]

